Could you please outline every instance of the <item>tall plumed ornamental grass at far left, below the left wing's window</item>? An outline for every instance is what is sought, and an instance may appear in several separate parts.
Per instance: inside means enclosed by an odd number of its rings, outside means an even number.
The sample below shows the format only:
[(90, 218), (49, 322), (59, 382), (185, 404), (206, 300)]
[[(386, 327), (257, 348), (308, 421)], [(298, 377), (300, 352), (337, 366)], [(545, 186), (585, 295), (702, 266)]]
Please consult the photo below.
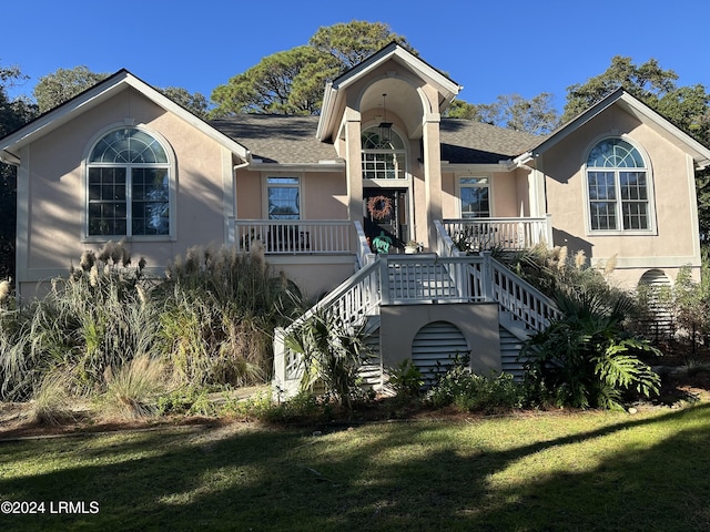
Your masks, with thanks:
[[(142, 303), (143, 266), (130, 265), (123, 243), (82, 254), (68, 278), (17, 310), (0, 340), (0, 398), (27, 400), (45, 375), (67, 375), (75, 395), (105, 390), (104, 370), (154, 348), (155, 307)], [(4, 319), (4, 318), (3, 318)]]

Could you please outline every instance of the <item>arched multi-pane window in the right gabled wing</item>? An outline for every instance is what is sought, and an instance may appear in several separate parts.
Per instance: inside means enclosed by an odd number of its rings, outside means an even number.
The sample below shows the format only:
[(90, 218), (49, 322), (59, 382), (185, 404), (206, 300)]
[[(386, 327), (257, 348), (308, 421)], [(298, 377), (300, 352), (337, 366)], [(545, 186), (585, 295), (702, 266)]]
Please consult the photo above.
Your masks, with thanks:
[(597, 143), (587, 158), (591, 231), (651, 228), (649, 168), (639, 151), (621, 139)]

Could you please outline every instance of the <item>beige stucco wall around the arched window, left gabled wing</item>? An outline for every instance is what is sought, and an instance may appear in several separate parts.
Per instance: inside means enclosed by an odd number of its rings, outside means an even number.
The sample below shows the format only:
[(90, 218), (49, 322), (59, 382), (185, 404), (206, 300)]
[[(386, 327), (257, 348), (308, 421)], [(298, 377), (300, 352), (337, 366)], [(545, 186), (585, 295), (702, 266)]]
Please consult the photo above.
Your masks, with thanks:
[[(18, 242), (18, 280), (21, 293), (33, 291), (38, 280), (64, 274), (84, 249), (100, 249), (98, 238), (84, 238), (85, 185), (82, 165), (91, 144), (112, 126), (145, 129), (168, 141), (178, 161), (174, 238), (126, 242), (133, 257), (143, 256), (149, 268), (163, 272), (175, 256), (199, 244), (224, 242), (224, 186), (231, 178), (231, 155), (213, 140), (133, 90), (118, 94), (70, 124), (38, 139), (26, 150), (20, 170), (20, 224), (28, 237)], [(227, 173), (225, 176), (224, 173)], [(229, 202), (227, 202), (229, 203)]]

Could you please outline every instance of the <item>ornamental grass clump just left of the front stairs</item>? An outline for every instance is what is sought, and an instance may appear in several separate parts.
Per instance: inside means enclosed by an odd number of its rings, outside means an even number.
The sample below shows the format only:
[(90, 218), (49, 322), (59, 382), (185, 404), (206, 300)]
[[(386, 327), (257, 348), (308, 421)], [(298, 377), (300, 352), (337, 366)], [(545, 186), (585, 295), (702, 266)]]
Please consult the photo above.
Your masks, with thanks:
[(166, 270), (158, 290), (160, 349), (183, 382), (264, 382), (273, 330), (291, 320), (301, 295), (266, 264), (263, 248), (193, 247)]

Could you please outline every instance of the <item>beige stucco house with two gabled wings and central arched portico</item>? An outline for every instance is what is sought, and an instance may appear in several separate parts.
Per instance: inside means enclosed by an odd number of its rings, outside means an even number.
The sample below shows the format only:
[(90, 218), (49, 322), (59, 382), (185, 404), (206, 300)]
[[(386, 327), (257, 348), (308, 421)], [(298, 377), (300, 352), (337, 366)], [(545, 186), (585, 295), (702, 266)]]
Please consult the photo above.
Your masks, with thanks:
[(18, 166), (18, 291), (108, 239), (156, 272), (194, 245), (260, 241), (324, 305), (372, 321), (381, 368), (467, 350), (500, 369), (554, 310), (454, 241), (615, 257), (627, 286), (699, 275), (710, 150), (622, 90), (535, 137), (443, 117), (460, 89), (393, 43), (328, 83), (320, 116), (204, 122), (120, 71), (0, 140)]

